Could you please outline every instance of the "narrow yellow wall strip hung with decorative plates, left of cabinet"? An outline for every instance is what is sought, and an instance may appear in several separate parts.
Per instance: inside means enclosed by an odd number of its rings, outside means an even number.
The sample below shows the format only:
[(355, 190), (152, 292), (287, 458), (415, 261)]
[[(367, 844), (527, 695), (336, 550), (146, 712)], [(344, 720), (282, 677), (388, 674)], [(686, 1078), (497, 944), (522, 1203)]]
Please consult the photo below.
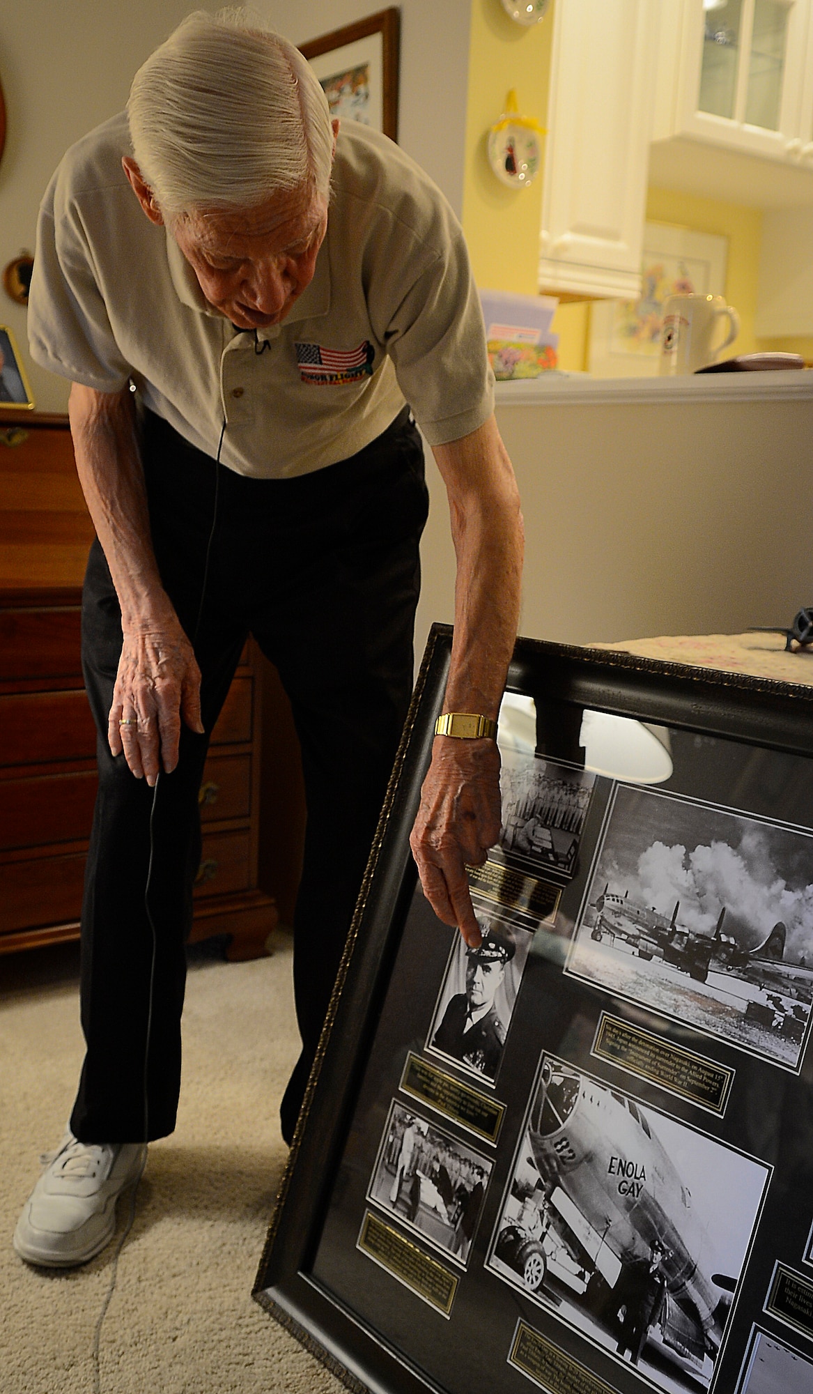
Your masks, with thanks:
[(553, 10), (523, 28), (497, 0), (472, 0), (462, 223), (475, 277), (484, 290), (536, 294), (542, 173), (528, 190), (500, 184), (486, 138), (511, 88), (522, 116), (546, 124)]

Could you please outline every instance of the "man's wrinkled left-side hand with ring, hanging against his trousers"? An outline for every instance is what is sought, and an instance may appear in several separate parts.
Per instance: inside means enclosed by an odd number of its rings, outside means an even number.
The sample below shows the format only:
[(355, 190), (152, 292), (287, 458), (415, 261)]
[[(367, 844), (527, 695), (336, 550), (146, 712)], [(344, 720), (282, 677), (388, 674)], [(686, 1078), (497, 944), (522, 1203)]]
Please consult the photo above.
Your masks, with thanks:
[(161, 768), (170, 774), (178, 764), (181, 718), (203, 735), (200, 669), (180, 623), (125, 631), (107, 722), (111, 753), (124, 751), (135, 778), (152, 789)]

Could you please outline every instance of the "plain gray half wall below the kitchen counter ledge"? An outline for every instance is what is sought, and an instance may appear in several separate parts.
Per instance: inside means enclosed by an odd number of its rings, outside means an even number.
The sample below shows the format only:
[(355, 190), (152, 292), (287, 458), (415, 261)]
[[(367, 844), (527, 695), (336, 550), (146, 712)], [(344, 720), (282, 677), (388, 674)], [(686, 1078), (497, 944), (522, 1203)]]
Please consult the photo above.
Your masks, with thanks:
[[(569, 644), (736, 634), (813, 601), (813, 400), (498, 406), (526, 531), (519, 633)], [(416, 655), (454, 613), (429, 463)]]

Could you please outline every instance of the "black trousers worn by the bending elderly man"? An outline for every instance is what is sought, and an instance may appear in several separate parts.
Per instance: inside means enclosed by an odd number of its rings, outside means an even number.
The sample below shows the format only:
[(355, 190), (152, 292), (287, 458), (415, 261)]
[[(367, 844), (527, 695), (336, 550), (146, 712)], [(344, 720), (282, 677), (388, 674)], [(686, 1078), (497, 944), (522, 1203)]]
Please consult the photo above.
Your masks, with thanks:
[[(420, 438), (404, 410), (349, 460), (294, 480), (249, 480), (148, 413), (142, 457), (161, 581), (187, 634), (196, 631), (206, 732), (251, 633), (280, 672), (302, 744), (308, 828), (294, 923), (302, 1055), (281, 1108), (290, 1140), (412, 689), (418, 544), (427, 513)], [(95, 542), (82, 661), (97, 728), (99, 796), (82, 910), (86, 1057), (71, 1117), (75, 1136), (88, 1143), (152, 1140), (175, 1125), (184, 945), (200, 860), (207, 736), (182, 728), (178, 765), (159, 778), (153, 807), (153, 790), (107, 746), (120, 654), (118, 601)]]

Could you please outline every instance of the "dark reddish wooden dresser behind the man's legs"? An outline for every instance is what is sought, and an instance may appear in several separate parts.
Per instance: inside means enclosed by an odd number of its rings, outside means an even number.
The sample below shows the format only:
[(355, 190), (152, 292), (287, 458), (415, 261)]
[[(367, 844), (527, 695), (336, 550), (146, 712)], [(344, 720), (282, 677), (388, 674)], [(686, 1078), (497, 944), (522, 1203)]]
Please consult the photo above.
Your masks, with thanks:
[[(0, 953), (79, 933), (96, 795), (96, 732), (79, 664), (79, 581), (92, 537), (64, 418), (1, 417)], [(228, 934), (231, 959), (260, 955), (277, 923), (273, 898), (258, 889), (260, 707), (262, 666), (249, 643), (200, 788), (192, 930), (194, 941)]]

